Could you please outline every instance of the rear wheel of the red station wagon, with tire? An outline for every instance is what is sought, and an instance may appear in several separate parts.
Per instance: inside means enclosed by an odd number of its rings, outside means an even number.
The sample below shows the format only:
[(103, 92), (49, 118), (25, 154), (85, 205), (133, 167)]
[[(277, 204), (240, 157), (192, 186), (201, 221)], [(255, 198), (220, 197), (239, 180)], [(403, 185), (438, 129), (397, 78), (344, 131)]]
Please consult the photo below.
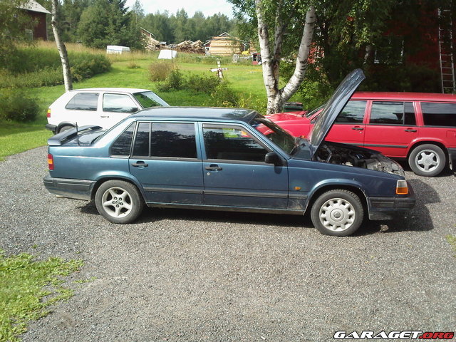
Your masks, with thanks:
[(408, 165), (415, 174), (434, 177), (445, 168), (447, 158), (440, 147), (432, 144), (415, 147), (408, 157)]

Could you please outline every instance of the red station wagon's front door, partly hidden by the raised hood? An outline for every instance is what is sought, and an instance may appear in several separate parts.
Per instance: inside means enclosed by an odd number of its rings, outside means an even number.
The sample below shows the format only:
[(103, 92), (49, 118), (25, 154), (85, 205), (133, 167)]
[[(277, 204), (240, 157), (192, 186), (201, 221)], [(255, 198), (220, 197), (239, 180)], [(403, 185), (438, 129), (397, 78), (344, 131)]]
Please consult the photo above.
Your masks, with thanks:
[(363, 100), (348, 101), (325, 140), (363, 146), (366, 104), (367, 101)]

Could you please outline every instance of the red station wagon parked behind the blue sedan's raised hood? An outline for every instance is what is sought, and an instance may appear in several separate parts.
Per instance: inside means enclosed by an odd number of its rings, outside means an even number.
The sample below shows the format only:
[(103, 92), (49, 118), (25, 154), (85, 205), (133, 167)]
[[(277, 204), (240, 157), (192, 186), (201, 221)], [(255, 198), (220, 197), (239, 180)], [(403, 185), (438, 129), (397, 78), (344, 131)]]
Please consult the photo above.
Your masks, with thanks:
[[(321, 109), (267, 115), (292, 135), (308, 135)], [(326, 140), (406, 159), (417, 175), (438, 175), (456, 162), (456, 95), (355, 93)]]

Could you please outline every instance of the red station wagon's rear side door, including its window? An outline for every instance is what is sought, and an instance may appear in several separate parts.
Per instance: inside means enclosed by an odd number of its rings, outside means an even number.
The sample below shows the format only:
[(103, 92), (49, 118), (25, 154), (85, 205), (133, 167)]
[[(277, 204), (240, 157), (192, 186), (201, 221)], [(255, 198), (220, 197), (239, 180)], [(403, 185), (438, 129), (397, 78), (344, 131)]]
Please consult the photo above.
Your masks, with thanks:
[(364, 146), (389, 157), (407, 157), (418, 131), (412, 102), (373, 101)]

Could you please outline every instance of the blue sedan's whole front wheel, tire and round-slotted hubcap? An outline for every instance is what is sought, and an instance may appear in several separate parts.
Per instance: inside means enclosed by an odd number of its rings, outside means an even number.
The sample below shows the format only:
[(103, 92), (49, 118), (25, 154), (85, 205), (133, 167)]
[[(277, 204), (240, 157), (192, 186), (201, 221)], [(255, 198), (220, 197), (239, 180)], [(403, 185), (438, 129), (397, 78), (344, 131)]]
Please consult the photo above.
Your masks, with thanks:
[(330, 190), (316, 199), (311, 219), (321, 234), (347, 237), (361, 227), (364, 209), (358, 195), (348, 190)]

